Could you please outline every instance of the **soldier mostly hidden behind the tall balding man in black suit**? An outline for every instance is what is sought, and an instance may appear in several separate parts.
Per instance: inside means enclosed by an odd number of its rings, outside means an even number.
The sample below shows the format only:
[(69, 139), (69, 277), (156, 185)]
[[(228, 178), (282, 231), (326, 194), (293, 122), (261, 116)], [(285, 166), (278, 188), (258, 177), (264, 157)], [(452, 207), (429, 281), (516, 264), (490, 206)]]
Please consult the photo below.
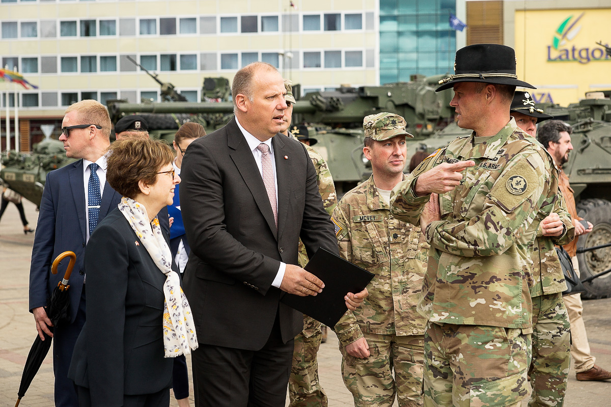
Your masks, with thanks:
[[(282, 126), (280, 132), (288, 137), (297, 139), (293, 132), (288, 132), (291, 127), (291, 113), (293, 112), (293, 89), (291, 82), (284, 81), (287, 95), (288, 109), (285, 109), (284, 121), (285, 126)], [(301, 134), (307, 132), (305, 126), (292, 126), (293, 131), (299, 131)], [(304, 145), (307, 153), (314, 164), (316, 170), (316, 181), (318, 181), (318, 191), (323, 199), (324, 209), (332, 214), (335, 205), (337, 204), (337, 195), (335, 195), (335, 185), (331, 177), (331, 171), (327, 166), (327, 162), (318, 152), (308, 145)], [(299, 266), (305, 267), (308, 262), (305, 247), (299, 239)], [(304, 314), (304, 329), (298, 336), (295, 337), (295, 350), (293, 351), (293, 364), (291, 366), (291, 375), (288, 379), (288, 394), (290, 398), (290, 407), (326, 407), (327, 395), (318, 380), (318, 361), (316, 353), (320, 348), (322, 340), (321, 323)]]

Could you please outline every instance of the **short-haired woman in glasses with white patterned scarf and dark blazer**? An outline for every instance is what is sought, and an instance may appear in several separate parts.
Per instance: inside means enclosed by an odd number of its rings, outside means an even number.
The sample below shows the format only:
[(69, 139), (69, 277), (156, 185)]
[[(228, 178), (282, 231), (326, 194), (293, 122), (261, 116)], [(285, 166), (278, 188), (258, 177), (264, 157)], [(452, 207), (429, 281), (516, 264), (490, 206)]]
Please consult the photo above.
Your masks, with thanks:
[[(87, 321), (68, 377), (79, 406), (167, 406), (174, 358), (197, 347), (189, 303), (157, 213), (180, 177), (159, 140), (109, 147), (106, 181), (123, 198), (87, 243)], [(174, 266), (175, 267), (175, 266)]]

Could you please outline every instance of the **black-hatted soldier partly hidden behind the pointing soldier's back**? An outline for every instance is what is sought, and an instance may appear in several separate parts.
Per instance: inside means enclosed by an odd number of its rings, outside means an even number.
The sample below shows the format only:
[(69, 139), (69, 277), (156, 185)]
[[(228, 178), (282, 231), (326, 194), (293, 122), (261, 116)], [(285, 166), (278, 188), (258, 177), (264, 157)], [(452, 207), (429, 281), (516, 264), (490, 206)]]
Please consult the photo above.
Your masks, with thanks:
[[(515, 93), (510, 115), (532, 137), (536, 136), (537, 121), (552, 118), (543, 110), (535, 109), (535, 101), (524, 91)], [(559, 175), (557, 169), (554, 174)], [(532, 245), (533, 356), (529, 373), (533, 391), (529, 407), (562, 407), (568, 381), (571, 324), (562, 300), (566, 283), (554, 244), (573, 240), (575, 227), (560, 190), (558, 196), (554, 212), (541, 221)]]

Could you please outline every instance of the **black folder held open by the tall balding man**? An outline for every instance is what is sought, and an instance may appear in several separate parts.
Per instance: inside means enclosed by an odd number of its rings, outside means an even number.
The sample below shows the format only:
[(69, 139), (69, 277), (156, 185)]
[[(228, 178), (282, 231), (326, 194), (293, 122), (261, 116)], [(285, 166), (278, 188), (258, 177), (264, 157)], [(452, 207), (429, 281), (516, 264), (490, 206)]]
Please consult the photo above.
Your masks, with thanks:
[(323, 281), (323, 292), (305, 297), (285, 294), (280, 301), (331, 328), (348, 309), (346, 293), (362, 291), (373, 278), (372, 273), (323, 248), (304, 268)]

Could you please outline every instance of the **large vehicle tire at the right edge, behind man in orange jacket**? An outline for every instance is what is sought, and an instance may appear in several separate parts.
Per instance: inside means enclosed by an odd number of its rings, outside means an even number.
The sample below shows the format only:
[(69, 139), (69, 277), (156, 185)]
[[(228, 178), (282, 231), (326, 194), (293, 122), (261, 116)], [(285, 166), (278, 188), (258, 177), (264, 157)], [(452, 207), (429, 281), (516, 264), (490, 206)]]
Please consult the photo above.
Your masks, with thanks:
[[(577, 247), (593, 247), (611, 243), (611, 202), (589, 199), (577, 204), (577, 214), (594, 225), (590, 233), (579, 236)], [(611, 247), (577, 254), (580, 278), (584, 279), (611, 268)], [(611, 273), (584, 284), (583, 298), (606, 298), (611, 295)]]

